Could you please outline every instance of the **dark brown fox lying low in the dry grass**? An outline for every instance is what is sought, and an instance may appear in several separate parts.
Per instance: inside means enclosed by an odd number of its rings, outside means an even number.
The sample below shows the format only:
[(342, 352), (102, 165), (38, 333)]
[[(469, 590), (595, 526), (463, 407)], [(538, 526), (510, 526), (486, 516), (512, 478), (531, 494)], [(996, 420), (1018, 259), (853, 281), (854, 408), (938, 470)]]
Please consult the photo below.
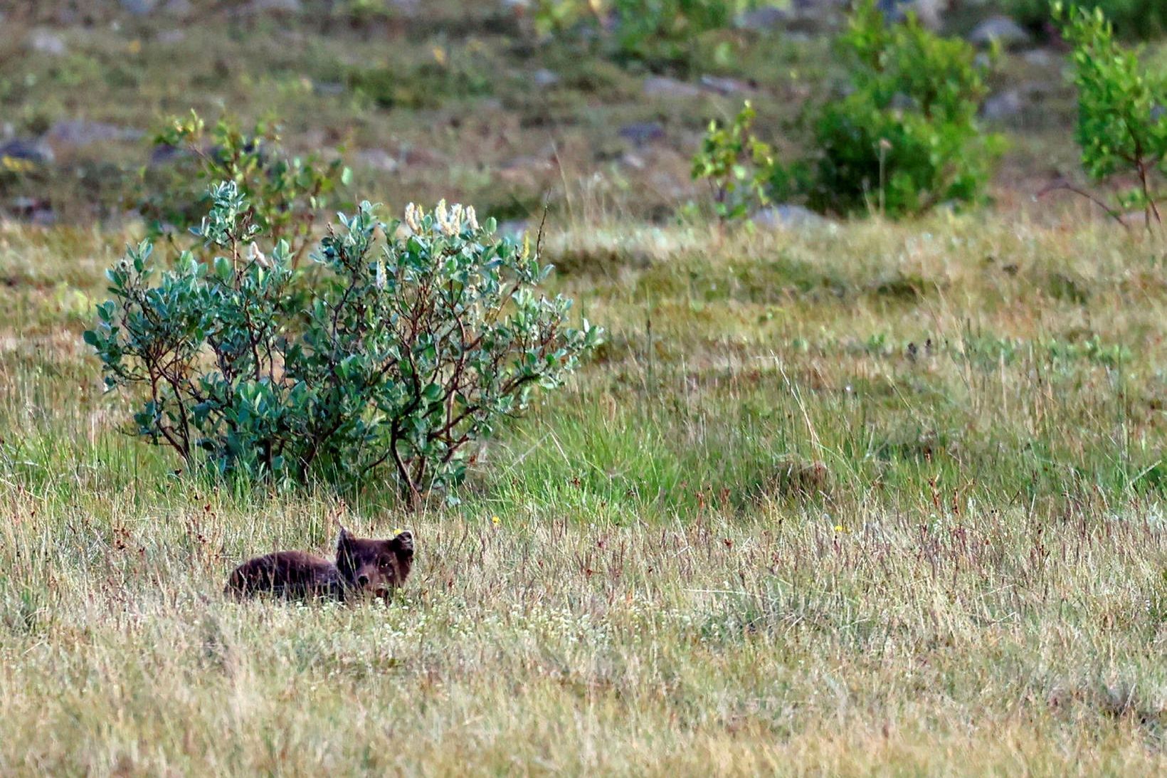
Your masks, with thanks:
[(405, 584), (413, 568), (413, 535), (390, 540), (354, 537), (341, 528), (336, 562), (305, 554), (277, 551), (240, 564), (228, 578), (226, 595), (309, 599), (351, 599), (364, 595), (389, 598)]

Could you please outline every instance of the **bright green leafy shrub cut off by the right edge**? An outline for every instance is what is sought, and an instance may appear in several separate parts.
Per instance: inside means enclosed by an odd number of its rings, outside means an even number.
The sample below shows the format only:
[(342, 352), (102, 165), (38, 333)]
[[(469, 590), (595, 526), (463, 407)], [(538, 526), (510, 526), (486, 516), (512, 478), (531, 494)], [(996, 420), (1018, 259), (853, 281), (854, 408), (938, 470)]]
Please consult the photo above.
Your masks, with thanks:
[[(1146, 72), (1137, 51), (1114, 41), (1102, 11), (1054, 6), (1054, 18), (1074, 47), (1074, 84), (1078, 92), (1075, 139), (1082, 165), (1093, 181), (1127, 175), (1138, 181), (1117, 195), (1117, 208), (1139, 208), (1147, 224), (1161, 223), (1156, 187), (1167, 173), (1167, 76)], [(1118, 210), (1099, 203), (1121, 221)]]

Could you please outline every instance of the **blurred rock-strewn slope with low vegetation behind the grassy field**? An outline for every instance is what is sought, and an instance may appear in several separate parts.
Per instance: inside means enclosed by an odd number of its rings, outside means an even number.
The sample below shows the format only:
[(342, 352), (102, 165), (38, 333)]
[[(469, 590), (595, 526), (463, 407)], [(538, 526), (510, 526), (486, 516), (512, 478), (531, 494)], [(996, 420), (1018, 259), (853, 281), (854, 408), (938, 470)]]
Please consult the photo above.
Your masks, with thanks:
[[(1043, 0), (878, 5), (980, 51), (979, 119), (1008, 138), (991, 186), (999, 207), (1028, 208), (1043, 185), (1077, 174), (1065, 46)], [(1156, 4), (1103, 5), (1162, 62)], [(748, 99), (757, 134), (794, 159), (813, 151), (808, 105), (850, 89), (843, 0), (0, 8), (0, 210), (35, 223), (120, 222), (158, 206), (189, 155), (159, 133), (190, 110), (210, 124), (266, 121), (287, 157), (343, 160), (349, 192), (396, 210), (447, 197), (518, 230), (545, 203), (552, 216), (582, 208), (587, 189), (592, 207), (669, 223), (708, 200), (690, 159), (711, 119)]]

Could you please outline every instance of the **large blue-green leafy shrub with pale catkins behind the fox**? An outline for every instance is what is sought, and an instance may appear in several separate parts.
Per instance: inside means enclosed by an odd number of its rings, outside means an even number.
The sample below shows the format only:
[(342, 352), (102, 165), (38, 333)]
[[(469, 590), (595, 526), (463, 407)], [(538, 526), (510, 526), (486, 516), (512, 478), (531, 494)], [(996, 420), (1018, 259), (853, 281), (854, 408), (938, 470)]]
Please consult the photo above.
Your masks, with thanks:
[(387, 477), (417, 505), (600, 341), (586, 320), (568, 326), (571, 300), (537, 294), (550, 265), (494, 242), (473, 209), (411, 206), (403, 228), (362, 203), (313, 253), (303, 303), (288, 294), (302, 271), (287, 242), (259, 249), (238, 185), (211, 199), (202, 248), (161, 275), (148, 241), (131, 249), (85, 333), (106, 385), (144, 391), (138, 435), (189, 466), (293, 484)]

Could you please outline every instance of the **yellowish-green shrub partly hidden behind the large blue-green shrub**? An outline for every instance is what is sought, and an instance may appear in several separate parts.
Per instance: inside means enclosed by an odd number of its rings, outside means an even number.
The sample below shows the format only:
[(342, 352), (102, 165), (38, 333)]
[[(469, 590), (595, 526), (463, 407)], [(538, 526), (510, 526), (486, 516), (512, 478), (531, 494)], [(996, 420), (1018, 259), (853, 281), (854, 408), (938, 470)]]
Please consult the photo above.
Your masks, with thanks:
[(286, 157), (279, 127), (267, 120), (244, 132), (222, 118), (208, 130), (191, 111), (186, 119), (170, 119), (153, 140), (179, 152), (174, 165), (144, 172), (138, 210), (154, 237), (167, 227), (184, 234), (197, 225), (209, 206), (207, 182), (233, 181), (251, 203), (256, 225), (273, 242), (288, 242), (294, 264), (310, 245), (313, 224), (330, 207), (329, 196), (351, 176), (340, 159)]

